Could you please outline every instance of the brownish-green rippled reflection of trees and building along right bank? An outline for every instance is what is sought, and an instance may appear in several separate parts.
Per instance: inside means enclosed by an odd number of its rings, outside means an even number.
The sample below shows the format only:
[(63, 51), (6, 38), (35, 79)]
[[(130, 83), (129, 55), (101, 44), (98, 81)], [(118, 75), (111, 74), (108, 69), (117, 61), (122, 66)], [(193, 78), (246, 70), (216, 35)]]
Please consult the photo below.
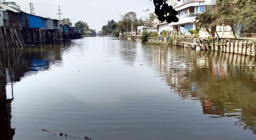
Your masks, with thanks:
[[(236, 117), (238, 126), (256, 130), (256, 77), (254, 67), (234, 67), (235, 64), (255, 64), (249, 58), (220, 52), (195, 52), (176, 47), (142, 47), (147, 62), (164, 76), (182, 99), (202, 103), (203, 114), (211, 118)], [(222, 64), (223, 59), (223, 64)], [(256, 80), (256, 79), (255, 79)]]

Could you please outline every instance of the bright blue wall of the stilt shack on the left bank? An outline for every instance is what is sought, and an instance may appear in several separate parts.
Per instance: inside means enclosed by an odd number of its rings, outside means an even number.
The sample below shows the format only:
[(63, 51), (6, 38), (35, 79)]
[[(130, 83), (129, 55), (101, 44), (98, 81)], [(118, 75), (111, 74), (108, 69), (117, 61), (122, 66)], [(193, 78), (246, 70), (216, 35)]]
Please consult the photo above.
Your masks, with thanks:
[(46, 19), (39, 16), (27, 15), (29, 28), (46, 28)]

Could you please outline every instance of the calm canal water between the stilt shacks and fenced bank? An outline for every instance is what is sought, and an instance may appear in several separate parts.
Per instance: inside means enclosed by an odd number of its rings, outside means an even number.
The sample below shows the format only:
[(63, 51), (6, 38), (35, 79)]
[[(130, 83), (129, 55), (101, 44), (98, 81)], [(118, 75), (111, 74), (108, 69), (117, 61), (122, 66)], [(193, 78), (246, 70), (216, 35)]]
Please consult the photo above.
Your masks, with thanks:
[(256, 139), (256, 67), (232, 66), (249, 57), (85, 37), (1, 60), (1, 140)]

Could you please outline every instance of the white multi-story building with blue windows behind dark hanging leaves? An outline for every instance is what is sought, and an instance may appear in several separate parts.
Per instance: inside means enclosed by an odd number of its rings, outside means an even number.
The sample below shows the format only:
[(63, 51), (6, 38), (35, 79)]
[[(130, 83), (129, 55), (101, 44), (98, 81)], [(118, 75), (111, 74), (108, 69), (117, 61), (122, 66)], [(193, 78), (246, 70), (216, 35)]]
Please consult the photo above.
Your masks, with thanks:
[(188, 29), (195, 29), (195, 26), (192, 24), (195, 20), (195, 13), (202, 13), (204, 11), (204, 5), (209, 5), (210, 1), (211, 0), (168, 0), (168, 5), (173, 6), (173, 9), (178, 12), (176, 16), (179, 21), (171, 23), (165, 21), (160, 23), (160, 21), (156, 19), (154, 23), (158, 26), (159, 33), (162, 30), (179, 30), (182, 33), (189, 34)]

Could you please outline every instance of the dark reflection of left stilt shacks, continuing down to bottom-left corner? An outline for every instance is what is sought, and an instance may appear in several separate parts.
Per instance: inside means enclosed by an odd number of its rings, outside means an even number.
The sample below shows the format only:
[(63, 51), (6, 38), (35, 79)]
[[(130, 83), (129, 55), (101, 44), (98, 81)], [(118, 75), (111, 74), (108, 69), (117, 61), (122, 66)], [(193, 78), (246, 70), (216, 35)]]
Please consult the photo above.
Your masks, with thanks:
[[(12, 140), (15, 128), (11, 127), (11, 103), (14, 98), (7, 98), (6, 85), (19, 82), (22, 78), (36, 75), (37, 72), (49, 70), (51, 66), (62, 65), (62, 49), (70, 46), (69, 42), (30, 46), (22, 48), (8, 48), (0, 57), (0, 140)], [(67, 48), (66, 48), (67, 49)], [(8, 65), (10, 60), (10, 67)], [(11, 73), (12, 72), (12, 73)]]

